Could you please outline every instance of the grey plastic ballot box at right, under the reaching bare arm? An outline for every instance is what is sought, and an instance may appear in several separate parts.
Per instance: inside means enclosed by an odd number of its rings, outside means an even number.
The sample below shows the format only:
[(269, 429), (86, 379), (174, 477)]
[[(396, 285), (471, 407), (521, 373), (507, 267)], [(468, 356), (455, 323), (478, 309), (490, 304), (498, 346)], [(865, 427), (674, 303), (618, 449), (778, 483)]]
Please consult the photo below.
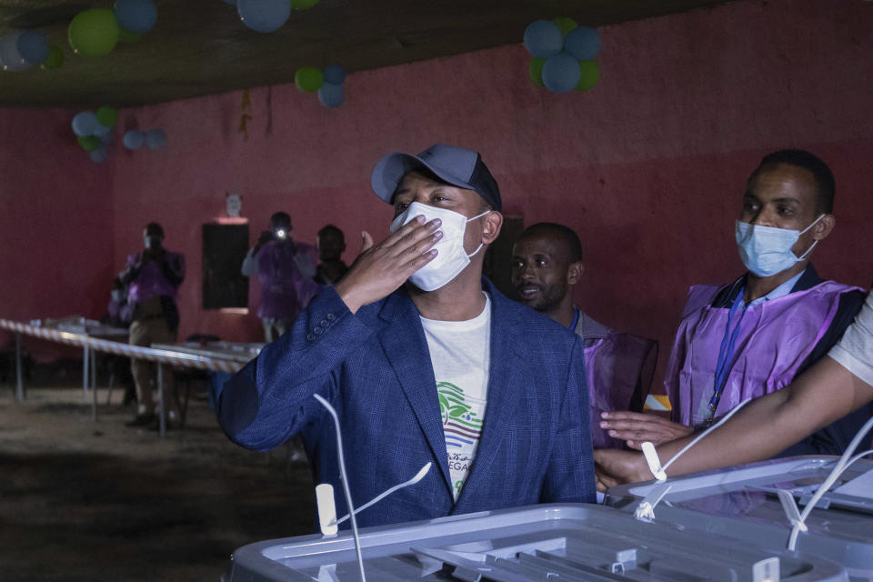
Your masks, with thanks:
[[(652, 508), (656, 523), (776, 550), (788, 547), (793, 529), (786, 505), (796, 504), (803, 512), (837, 461), (788, 457), (613, 487), (606, 504), (633, 513), (644, 500), (651, 505), (659, 499)], [(853, 582), (873, 581), (873, 462), (861, 459), (848, 466), (809, 508), (795, 547), (803, 556), (843, 565)]]

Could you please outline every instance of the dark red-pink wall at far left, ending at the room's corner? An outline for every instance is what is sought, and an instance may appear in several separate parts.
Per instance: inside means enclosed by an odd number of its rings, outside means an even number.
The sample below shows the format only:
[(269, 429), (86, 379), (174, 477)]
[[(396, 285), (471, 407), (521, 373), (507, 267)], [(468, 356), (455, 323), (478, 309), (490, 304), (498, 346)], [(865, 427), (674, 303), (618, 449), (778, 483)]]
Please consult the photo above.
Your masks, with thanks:
[[(104, 313), (115, 244), (112, 171), (76, 144), (73, 115), (0, 110), (0, 317)], [(12, 339), (0, 330), (0, 348)], [(25, 347), (41, 359), (70, 353), (40, 340)]]

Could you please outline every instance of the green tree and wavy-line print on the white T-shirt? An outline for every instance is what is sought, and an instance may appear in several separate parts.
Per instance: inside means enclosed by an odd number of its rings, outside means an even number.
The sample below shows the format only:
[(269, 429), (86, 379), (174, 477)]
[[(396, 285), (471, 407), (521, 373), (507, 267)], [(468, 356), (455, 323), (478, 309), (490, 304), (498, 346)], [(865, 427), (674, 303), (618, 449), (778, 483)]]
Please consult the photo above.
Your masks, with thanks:
[(437, 397), (439, 412), (443, 417), (453, 494), (457, 499), (467, 480), (479, 436), (482, 434), (481, 411), (485, 402), (465, 397), (464, 390), (450, 382), (437, 383)]

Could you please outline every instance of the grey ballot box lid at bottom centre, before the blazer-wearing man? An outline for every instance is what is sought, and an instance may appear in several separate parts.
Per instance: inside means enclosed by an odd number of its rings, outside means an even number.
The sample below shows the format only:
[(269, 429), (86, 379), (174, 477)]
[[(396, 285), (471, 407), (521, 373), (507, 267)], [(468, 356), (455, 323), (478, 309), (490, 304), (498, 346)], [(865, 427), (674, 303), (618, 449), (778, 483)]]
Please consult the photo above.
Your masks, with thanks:
[[(819, 557), (645, 523), (617, 509), (547, 504), (360, 530), (367, 580), (846, 580)], [(353, 537), (240, 547), (226, 582), (359, 580)]]

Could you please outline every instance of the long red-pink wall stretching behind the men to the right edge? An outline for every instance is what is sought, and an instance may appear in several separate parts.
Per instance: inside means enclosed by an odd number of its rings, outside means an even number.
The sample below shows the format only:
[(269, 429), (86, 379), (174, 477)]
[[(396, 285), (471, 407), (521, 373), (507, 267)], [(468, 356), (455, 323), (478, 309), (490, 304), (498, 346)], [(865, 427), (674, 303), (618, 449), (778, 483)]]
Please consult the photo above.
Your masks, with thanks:
[[(168, 142), (115, 151), (112, 266), (100, 268), (120, 269), (158, 220), (187, 258), (181, 335), (256, 339), (254, 315), (199, 308), (200, 225), (223, 214), (226, 192), (243, 195), (253, 239), (286, 209), (301, 240), (327, 222), (343, 228), (350, 261), (356, 233), (384, 235), (391, 217), (368, 186), (379, 156), (443, 141), (483, 152), (508, 214), (576, 228), (588, 274), (579, 301), (666, 353), (687, 286), (741, 272), (733, 221), (769, 151), (803, 147), (832, 166), (838, 227), (816, 264), (848, 283), (873, 278), (873, 255), (858, 250), (873, 224), (871, 19), (860, 1), (746, 0), (607, 27), (602, 80), (585, 94), (532, 85), (521, 46), (350, 75), (335, 110), (293, 85), (256, 89), (248, 141), (240, 93), (127, 110), (125, 127), (161, 126)], [(90, 290), (76, 292), (88, 305)]]

